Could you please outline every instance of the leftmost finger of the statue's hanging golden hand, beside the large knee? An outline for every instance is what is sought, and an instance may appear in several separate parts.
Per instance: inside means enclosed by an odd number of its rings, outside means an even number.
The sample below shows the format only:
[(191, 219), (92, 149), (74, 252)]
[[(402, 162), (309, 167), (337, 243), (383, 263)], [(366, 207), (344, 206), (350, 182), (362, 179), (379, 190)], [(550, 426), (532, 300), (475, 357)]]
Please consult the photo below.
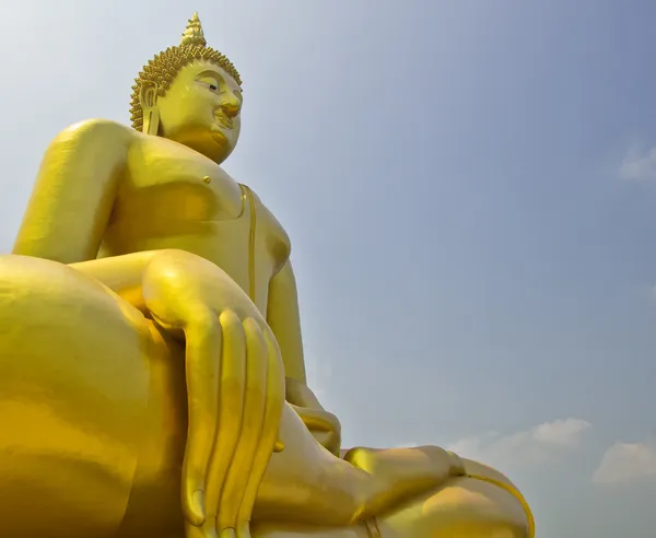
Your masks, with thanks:
[(191, 525), (206, 519), (206, 478), (219, 414), (221, 327), (213, 315), (185, 328), (189, 425), (183, 464), (181, 504)]

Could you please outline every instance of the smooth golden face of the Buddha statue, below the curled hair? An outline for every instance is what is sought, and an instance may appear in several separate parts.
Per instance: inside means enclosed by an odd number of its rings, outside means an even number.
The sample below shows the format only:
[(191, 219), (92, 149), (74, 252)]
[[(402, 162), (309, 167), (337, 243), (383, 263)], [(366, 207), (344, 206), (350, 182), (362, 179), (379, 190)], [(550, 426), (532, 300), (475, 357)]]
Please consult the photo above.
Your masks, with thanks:
[(166, 95), (157, 97), (160, 134), (223, 162), (239, 138), (242, 92), (236, 81), (209, 61), (184, 67)]

